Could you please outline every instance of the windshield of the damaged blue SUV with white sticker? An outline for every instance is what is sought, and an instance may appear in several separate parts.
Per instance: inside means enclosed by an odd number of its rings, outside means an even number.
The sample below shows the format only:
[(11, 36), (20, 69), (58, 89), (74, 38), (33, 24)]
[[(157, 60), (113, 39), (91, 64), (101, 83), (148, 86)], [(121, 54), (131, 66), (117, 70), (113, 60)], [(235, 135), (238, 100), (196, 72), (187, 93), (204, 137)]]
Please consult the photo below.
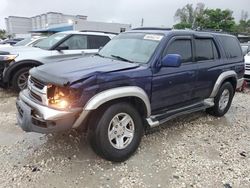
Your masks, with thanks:
[(147, 63), (160, 43), (163, 35), (146, 33), (124, 33), (106, 44), (99, 55), (119, 60)]

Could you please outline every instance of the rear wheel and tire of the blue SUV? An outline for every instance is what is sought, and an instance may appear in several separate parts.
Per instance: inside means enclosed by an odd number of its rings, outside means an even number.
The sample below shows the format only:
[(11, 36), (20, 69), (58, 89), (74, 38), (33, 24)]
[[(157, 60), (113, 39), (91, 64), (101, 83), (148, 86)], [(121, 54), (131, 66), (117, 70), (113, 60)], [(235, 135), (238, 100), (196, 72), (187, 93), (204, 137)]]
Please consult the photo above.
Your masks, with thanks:
[[(223, 83), (214, 98), (214, 106), (206, 109), (206, 112), (216, 117), (224, 116), (232, 104), (234, 92), (234, 88), (230, 82)], [(227, 96), (228, 99), (222, 98), (223, 96)]]

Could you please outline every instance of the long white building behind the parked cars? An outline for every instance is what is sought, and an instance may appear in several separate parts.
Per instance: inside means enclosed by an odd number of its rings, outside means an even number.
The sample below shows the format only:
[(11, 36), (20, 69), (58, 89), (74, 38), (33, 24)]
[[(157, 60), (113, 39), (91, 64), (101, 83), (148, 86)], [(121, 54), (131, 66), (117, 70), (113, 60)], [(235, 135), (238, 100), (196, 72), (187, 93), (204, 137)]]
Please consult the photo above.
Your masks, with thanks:
[[(120, 33), (131, 29), (130, 24), (87, 21), (84, 15), (66, 15), (58, 12), (48, 12), (28, 17), (9, 16), (5, 18), (6, 30), (10, 35), (20, 36), (31, 31), (64, 31), (91, 30)], [(71, 25), (71, 27), (69, 27)]]

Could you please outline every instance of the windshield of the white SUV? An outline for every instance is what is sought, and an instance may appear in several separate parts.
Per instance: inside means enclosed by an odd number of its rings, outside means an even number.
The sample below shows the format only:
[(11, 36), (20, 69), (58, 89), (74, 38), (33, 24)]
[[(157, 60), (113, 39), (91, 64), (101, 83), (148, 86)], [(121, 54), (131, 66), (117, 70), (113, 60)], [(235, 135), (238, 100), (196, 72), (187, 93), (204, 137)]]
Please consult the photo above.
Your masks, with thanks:
[(57, 33), (57, 34), (51, 35), (48, 38), (43, 39), (42, 41), (38, 42), (36, 45), (34, 45), (34, 47), (42, 48), (44, 50), (49, 50), (67, 35), (68, 34), (64, 34), (64, 33)]

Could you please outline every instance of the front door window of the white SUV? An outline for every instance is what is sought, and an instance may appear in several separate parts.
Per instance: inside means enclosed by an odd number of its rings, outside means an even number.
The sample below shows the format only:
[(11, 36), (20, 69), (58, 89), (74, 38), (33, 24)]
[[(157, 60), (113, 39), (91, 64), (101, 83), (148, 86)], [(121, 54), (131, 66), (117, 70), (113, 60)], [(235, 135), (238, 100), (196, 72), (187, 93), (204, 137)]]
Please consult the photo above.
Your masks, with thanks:
[(69, 47), (69, 50), (87, 49), (87, 36), (73, 35), (60, 45), (60, 47), (64, 46)]

